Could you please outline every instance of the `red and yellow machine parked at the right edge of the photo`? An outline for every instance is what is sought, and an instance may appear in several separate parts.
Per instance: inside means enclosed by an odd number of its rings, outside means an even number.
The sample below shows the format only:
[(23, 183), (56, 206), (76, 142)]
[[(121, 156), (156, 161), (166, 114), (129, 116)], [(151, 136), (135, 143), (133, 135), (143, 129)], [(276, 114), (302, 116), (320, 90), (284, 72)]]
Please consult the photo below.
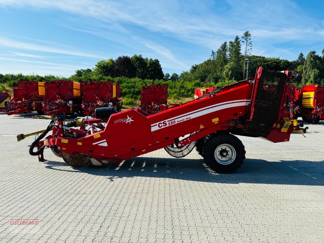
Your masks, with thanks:
[(302, 117), (305, 122), (318, 123), (324, 120), (324, 85), (307, 85), (295, 89), (291, 113), (295, 119)]

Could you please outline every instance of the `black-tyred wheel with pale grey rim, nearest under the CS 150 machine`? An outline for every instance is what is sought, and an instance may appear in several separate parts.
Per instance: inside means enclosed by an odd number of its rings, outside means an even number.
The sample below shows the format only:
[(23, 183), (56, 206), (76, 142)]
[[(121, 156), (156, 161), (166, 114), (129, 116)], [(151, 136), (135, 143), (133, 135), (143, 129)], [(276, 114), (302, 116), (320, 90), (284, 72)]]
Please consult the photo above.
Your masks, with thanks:
[(206, 140), (203, 157), (206, 164), (215, 172), (231, 173), (243, 164), (245, 148), (236, 136), (221, 133)]

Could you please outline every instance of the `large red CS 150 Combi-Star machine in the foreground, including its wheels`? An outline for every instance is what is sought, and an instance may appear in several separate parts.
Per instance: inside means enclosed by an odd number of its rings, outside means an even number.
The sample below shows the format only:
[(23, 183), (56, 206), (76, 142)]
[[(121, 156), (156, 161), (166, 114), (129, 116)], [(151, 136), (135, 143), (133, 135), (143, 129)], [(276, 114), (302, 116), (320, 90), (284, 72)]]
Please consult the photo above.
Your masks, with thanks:
[(260, 67), (252, 80), (216, 88), (156, 114), (138, 108), (115, 113), (113, 107), (107, 107), (101, 108), (105, 112), (97, 119), (57, 118), (45, 131), (35, 132), (41, 134), (29, 153), (42, 161), (44, 148), (51, 148), (68, 165), (84, 167), (121, 162), (161, 148), (171, 156), (183, 157), (196, 147), (211, 169), (233, 172), (245, 159), (244, 145), (233, 134), (277, 143), (289, 141), (294, 128), (299, 129), (284, 110), (292, 76), (288, 71)]

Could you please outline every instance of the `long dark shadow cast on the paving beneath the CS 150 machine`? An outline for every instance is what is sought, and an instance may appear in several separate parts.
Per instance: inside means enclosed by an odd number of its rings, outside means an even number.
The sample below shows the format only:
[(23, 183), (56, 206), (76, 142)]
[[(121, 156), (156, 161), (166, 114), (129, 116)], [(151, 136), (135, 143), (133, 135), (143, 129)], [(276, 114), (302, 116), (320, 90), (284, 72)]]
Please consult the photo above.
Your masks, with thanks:
[(211, 172), (203, 159), (135, 157), (110, 166), (91, 168), (72, 168), (55, 161), (45, 164), (48, 169), (104, 176), (111, 181), (124, 177), (154, 177), (229, 184), (324, 185), (324, 161), (245, 159), (242, 167), (231, 174)]

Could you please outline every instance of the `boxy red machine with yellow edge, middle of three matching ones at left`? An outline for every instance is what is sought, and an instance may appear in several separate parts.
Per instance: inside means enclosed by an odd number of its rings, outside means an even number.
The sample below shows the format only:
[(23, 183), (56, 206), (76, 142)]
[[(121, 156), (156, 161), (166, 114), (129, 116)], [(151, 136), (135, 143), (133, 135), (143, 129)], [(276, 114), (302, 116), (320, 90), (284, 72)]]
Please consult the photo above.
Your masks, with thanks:
[(47, 115), (82, 113), (81, 84), (72, 80), (46, 80), (42, 104)]

